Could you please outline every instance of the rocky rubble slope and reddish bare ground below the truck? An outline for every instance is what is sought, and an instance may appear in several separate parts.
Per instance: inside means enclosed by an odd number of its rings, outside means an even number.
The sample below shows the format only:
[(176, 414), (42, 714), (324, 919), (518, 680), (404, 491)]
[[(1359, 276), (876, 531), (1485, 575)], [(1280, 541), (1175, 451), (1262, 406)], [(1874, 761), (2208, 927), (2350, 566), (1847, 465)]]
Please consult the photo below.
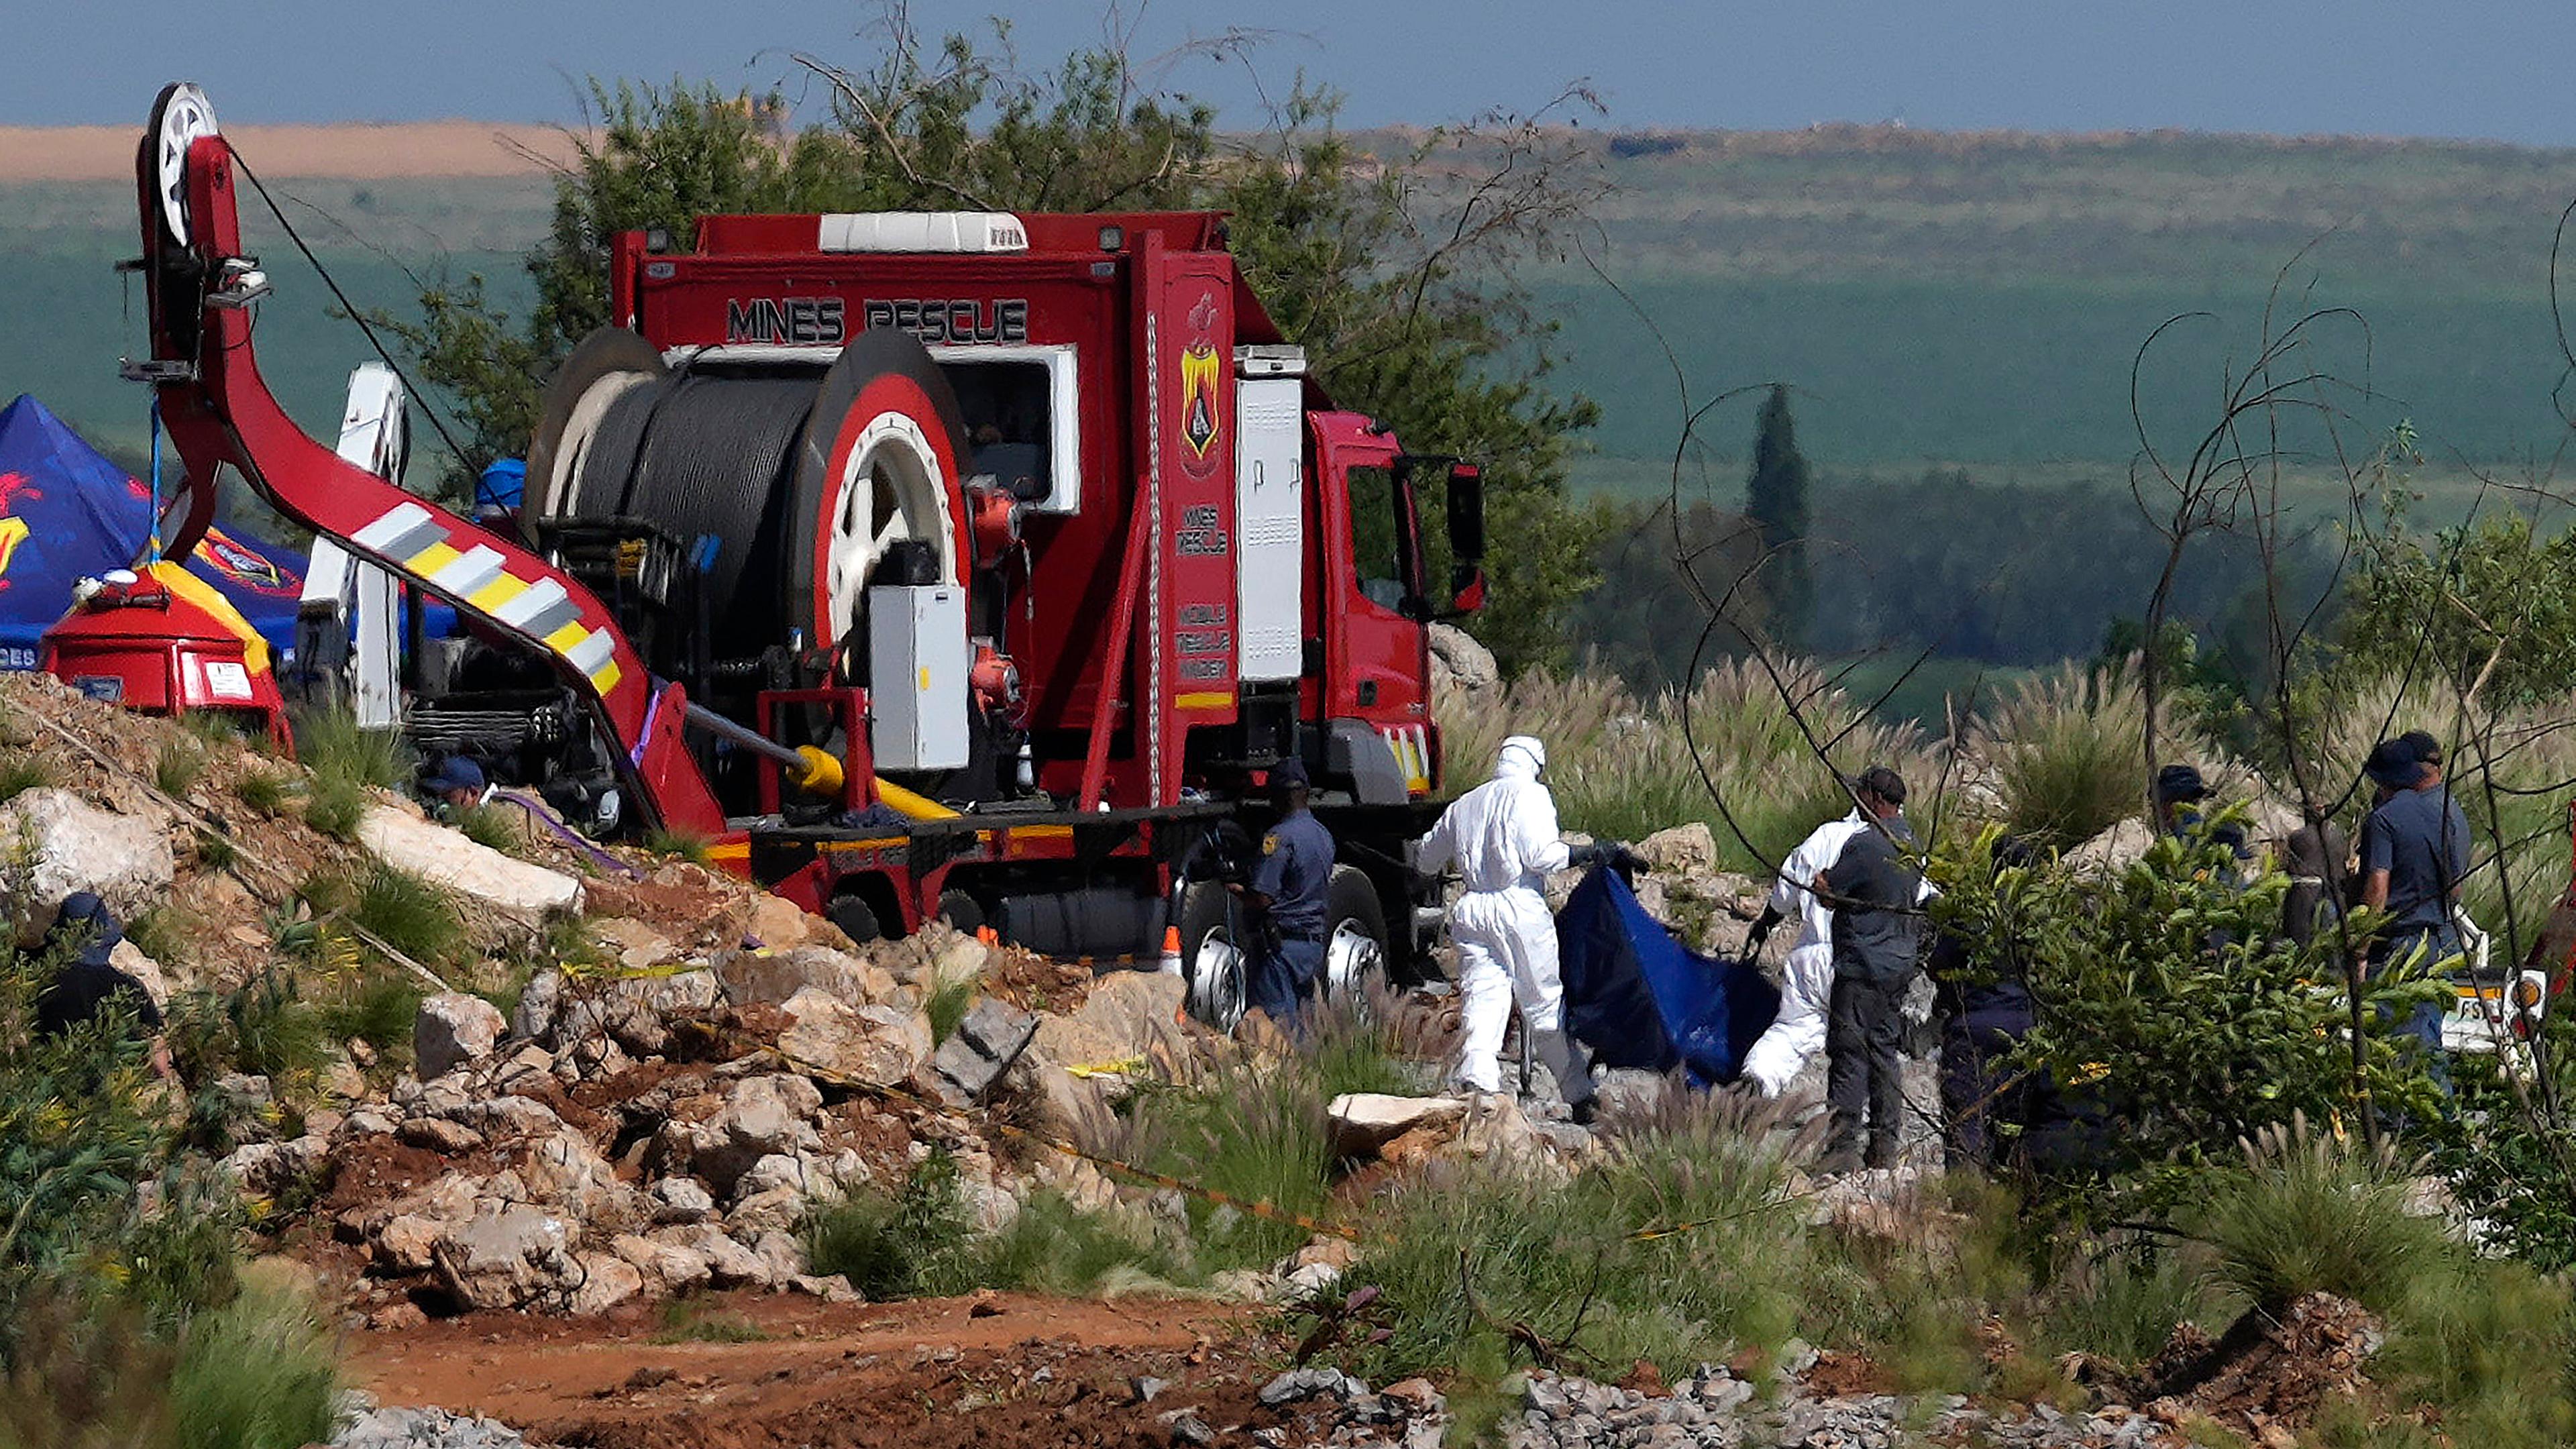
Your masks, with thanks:
[[(688, 861), (538, 825), (495, 851), (394, 797), (337, 838), (258, 789), (263, 773), (304, 789), (291, 763), (44, 676), (0, 681), (0, 745), (46, 779), (0, 802), (0, 830), (23, 841), (21, 938), (67, 890), (98, 890), (129, 920), (175, 910), (188, 928), (160, 936), (178, 944), (170, 959), (137, 944), (118, 957), (165, 1000), (242, 985), (296, 928), (304, 882), (371, 864), (459, 900), (487, 967), (538, 964), (487, 993), (507, 1013), (464, 990), (492, 977), (484, 967), (438, 980), (407, 1062), (350, 1039), (317, 1080), (222, 1083), (237, 1142), (224, 1168), (276, 1250), (348, 1310), (371, 1400), (335, 1441), (345, 1449), (1425, 1446), (1455, 1428), (1430, 1382), (1285, 1372), (1267, 1305), (1332, 1287), (1350, 1261), (1340, 1240), (1190, 1299), (866, 1305), (806, 1263), (799, 1225), (817, 1204), (891, 1189), (930, 1152), (956, 1163), (987, 1230), (1036, 1191), (1151, 1212), (1170, 1189), (1061, 1145), (1136, 1078), (1260, 1060), (1260, 1042), (1188, 1021), (1177, 977), (1095, 977), (945, 928), (853, 946)], [(1705, 828), (1656, 835), (1643, 856), (1649, 910), (1703, 949), (1741, 949), (1759, 884), (1716, 869)], [(966, 1000), (945, 1039), (935, 998)], [(1432, 1080), (1453, 1006), (1419, 993), (1391, 1008)], [(1929, 1109), (1927, 1065), (1909, 1091)], [(1602, 1150), (1564, 1119), (1546, 1073), (1522, 1104), (1358, 1098), (1334, 1114), (1345, 1152), (1386, 1171), (1499, 1155), (1569, 1173)], [(1922, 1111), (1904, 1168), (1814, 1191), (1814, 1212), (1862, 1227), (1901, 1212), (1937, 1158), (1929, 1122)], [(2154, 1405), (1901, 1397), (1865, 1361), (1811, 1351), (1783, 1369), (1703, 1366), (1669, 1387), (1528, 1372), (1504, 1385), (1494, 1428), (1507, 1444), (1602, 1446), (2179, 1444), (2177, 1415)]]

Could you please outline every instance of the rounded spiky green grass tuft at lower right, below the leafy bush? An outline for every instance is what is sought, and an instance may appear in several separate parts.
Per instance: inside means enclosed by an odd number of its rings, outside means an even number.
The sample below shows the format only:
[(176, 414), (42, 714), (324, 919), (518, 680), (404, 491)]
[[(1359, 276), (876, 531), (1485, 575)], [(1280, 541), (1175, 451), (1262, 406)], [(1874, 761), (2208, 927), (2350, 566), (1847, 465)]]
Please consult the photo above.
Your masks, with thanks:
[(2215, 1274), (2264, 1312), (2300, 1294), (2331, 1292), (2385, 1312), (2427, 1274), (2452, 1269), (2439, 1220), (2406, 1212), (2409, 1171), (2303, 1116), (2264, 1127), (2244, 1145), (2246, 1171), (2202, 1183), (2195, 1235), (2215, 1250)]

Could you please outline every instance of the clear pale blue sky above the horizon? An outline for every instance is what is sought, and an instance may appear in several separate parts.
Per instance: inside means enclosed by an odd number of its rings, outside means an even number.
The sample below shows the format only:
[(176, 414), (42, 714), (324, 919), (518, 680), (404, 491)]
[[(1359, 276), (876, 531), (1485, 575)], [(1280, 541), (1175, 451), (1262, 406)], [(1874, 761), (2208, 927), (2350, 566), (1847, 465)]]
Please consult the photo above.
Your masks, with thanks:
[[(227, 121), (574, 121), (587, 75), (799, 85), (868, 64), (868, 0), (0, 0), (0, 124), (139, 124), (165, 80)], [(2576, 0), (1159, 0), (1131, 57), (1267, 31), (1164, 85), (1260, 126), (1306, 72), (1345, 124), (1533, 111), (1607, 126), (2151, 129), (2576, 144)], [(1095, 0), (912, 0), (920, 31), (1007, 15), (1025, 64), (1097, 44)]]

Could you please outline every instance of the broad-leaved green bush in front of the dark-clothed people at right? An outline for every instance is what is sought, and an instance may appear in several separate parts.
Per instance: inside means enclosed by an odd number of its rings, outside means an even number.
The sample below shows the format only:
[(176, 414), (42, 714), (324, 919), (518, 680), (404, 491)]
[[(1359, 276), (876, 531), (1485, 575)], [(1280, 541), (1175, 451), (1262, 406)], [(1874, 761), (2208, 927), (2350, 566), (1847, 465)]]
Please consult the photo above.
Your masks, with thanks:
[[(1978, 969), (2030, 985), (2038, 1026), (2017, 1065), (2045, 1073), (2069, 1116), (2032, 1150), (2038, 1207), (2156, 1220), (2202, 1191), (2208, 1163), (2295, 1114), (2439, 1116), (2393, 1024), (2445, 987), (2396, 972), (2362, 985), (2354, 1080), (2334, 938), (2275, 936), (2285, 877), (2241, 882), (2210, 835), (2159, 835), (2117, 871), (1999, 866), (1994, 835), (1935, 856), (1932, 918)], [(2367, 913), (2354, 923), (2372, 928)]]

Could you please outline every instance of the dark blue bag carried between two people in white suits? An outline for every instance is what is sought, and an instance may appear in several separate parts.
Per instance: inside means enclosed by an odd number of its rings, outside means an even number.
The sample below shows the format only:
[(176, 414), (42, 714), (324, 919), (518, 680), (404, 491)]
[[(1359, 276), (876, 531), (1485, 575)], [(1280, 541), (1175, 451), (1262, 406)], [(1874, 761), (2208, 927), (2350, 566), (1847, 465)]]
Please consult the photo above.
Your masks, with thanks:
[(1703, 957), (1646, 915), (1615, 871), (1595, 869), (1556, 915), (1566, 1024), (1605, 1067), (1728, 1083), (1780, 1016), (1780, 987), (1744, 962)]

